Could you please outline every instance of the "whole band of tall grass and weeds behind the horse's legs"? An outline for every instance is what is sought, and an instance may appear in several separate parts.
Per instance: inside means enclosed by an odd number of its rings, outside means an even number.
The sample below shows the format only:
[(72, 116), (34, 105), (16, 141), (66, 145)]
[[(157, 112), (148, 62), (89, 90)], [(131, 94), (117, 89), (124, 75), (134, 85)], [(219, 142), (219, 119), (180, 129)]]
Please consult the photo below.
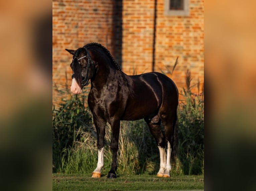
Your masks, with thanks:
[[(189, 78), (191, 81), (188, 72), (187, 82)], [(185, 99), (178, 106), (179, 153), (172, 168), (172, 173), (177, 174), (204, 172), (204, 93), (191, 93), (190, 81), (181, 92)], [(53, 107), (53, 172), (88, 173), (97, 165), (97, 133), (85, 106), (86, 95), (73, 95), (58, 109)], [(107, 123), (103, 175), (111, 168), (110, 141)], [(144, 120), (121, 121), (117, 173), (156, 174), (159, 162), (157, 145)]]

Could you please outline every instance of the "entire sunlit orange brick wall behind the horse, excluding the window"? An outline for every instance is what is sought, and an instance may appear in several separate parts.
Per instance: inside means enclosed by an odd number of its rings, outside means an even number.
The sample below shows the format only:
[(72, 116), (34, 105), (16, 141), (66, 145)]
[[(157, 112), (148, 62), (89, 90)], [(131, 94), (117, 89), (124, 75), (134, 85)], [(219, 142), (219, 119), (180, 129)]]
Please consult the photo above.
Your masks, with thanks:
[[(171, 71), (178, 56), (173, 75), (167, 73), (178, 89), (185, 87), (187, 69), (191, 84), (198, 79), (202, 84), (204, 0), (189, 0), (189, 16), (166, 16), (164, 0), (156, 4), (155, 15), (155, 0), (53, 0), (53, 86), (63, 89), (66, 74), (68, 88), (71, 85), (71, 55), (65, 48), (77, 49), (90, 42), (109, 49), (128, 75), (151, 72), (153, 63), (156, 72)], [(53, 103), (60, 97), (54, 88)]]

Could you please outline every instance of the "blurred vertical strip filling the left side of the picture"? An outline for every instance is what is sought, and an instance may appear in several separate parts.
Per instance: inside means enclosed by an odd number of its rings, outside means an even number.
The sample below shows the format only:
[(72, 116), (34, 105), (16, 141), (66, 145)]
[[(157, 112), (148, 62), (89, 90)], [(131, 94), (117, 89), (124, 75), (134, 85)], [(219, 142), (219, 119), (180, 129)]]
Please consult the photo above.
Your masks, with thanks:
[(51, 190), (52, 2), (0, 3), (0, 184)]

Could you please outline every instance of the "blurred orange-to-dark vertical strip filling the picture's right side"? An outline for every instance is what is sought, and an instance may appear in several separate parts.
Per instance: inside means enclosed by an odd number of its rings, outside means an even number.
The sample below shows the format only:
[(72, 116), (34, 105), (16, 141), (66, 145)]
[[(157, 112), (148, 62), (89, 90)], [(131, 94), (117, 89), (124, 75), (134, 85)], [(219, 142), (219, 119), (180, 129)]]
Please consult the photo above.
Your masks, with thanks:
[(255, 190), (255, 2), (205, 2), (205, 188)]

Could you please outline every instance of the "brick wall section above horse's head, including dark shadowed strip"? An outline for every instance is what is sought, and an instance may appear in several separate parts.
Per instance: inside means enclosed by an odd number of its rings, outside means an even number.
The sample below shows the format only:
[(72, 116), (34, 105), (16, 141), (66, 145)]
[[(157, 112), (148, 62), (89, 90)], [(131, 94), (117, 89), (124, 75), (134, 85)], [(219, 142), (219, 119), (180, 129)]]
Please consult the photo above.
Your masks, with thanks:
[[(58, 90), (63, 89), (66, 83), (66, 73), (67, 83), (71, 85), (72, 57), (65, 50), (66, 48), (76, 50), (88, 43), (98, 42), (108, 48), (120, 63), (122, 59), (121, 11), (120, 2), (113, 0), (53, 0), (53, 86), (57, 86)], [(58, 92), (53, 90), (53, 102), (59, 100), (59, 96)]]

